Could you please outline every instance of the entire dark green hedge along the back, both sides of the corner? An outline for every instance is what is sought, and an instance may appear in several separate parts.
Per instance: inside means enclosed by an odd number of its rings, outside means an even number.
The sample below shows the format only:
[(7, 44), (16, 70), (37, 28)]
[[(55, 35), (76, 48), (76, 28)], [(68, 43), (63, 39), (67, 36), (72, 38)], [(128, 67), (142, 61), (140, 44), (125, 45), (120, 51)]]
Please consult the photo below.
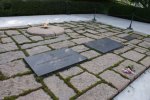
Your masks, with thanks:
[(109, 14), (150, 22), (150, 8), (142, 9), (113, 3), (111, 0), (0, 0), (0, 17), (51, 14)]

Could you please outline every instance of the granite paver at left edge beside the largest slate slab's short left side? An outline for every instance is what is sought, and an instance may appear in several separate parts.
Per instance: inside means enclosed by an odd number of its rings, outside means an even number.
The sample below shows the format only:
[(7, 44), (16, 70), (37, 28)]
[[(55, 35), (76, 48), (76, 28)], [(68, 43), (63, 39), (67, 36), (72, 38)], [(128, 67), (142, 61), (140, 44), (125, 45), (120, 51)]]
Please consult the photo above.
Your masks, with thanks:
[(17, 60), (0, 65), (0, 70), (4, 76), (10, 77), (16, 74), (21, 74), (29, 71), (22, 60)]

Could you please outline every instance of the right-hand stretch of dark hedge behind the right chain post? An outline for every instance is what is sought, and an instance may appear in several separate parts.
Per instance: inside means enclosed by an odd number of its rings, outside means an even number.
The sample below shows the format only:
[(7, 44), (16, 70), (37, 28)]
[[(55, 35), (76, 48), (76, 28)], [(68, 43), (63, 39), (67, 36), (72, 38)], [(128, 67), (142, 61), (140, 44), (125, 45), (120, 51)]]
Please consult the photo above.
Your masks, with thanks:
[(129, 5), (117, 4), (109, 10), (109, 15), (150, 23), (150, 8), (136, 8)]

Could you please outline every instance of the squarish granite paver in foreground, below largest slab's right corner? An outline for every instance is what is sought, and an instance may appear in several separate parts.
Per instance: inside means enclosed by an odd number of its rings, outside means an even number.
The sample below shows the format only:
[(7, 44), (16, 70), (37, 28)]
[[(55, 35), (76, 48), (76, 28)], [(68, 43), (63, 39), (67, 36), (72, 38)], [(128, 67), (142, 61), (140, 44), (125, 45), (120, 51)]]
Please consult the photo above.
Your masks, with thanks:
[(87, 89), (98, 81), (100, 81), (100, 79), (92, 74), (89, 74), (88, 72), (84, 72), (78, 76), (71, 78), (70, 80), (71, 84), (79, 91)]

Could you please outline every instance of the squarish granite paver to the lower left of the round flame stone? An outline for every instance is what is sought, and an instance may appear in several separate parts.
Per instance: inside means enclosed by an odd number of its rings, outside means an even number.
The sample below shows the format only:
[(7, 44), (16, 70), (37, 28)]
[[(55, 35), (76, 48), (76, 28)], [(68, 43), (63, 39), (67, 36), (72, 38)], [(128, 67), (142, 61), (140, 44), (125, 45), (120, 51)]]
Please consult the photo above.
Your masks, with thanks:
[(26, 42), (31, 42), (27, 37), (25, 37), (24, 35), (16, 35), (13, 36), (13, 39), (18, 43), (18, 44), (22, 44), (22, 43), (26, 43)]

